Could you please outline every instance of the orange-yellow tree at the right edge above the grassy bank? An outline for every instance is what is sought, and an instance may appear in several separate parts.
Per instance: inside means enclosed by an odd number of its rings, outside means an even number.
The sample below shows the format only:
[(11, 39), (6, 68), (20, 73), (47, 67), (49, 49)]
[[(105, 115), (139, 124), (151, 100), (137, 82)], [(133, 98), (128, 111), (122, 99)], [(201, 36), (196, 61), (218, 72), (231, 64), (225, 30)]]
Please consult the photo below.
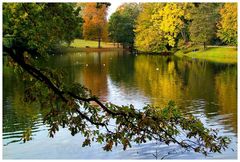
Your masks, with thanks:
[(220, 9), (217, 36), (229, 45), (237, 45), (237, 3), (225, 3)]

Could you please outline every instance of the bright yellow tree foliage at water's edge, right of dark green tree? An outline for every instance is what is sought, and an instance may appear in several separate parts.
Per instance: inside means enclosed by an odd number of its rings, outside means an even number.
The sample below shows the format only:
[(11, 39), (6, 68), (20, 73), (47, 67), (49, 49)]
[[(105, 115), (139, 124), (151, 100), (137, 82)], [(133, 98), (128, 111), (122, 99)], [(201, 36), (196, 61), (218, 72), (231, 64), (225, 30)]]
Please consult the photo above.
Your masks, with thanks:
[(164, 52), (189, 40), (192, 3), (145, 3), (137, 18), (135, 44), (143, 52)]

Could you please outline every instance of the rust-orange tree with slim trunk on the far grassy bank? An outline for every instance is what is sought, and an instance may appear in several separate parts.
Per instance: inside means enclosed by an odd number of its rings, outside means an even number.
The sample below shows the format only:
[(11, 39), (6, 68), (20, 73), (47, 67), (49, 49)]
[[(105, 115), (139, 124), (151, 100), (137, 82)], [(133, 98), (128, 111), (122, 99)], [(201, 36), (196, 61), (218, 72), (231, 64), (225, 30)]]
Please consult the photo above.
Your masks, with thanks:
[(86, 3), (83, 8), (83, 37), (88, 40), (98, 40), (98, 48), (101, 48), (101, 40), (106, 40), (107, 8), (108, 4)]

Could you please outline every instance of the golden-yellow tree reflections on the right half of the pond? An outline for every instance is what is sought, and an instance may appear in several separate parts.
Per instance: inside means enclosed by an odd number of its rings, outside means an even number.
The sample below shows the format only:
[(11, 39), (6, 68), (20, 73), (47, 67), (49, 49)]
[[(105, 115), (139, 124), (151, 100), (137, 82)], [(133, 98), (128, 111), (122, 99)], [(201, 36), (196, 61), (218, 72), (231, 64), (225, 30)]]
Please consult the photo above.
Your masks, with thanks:
[[(212, 113), (231, 114), (228, 124), (237, 132), (236, 65), (139, 56), (135, 69), (137, 86), (154, 105), (164, 106), (172, 99), (184, 109), (196, 100), (202, 101), (207, 116)], [(191, 108), (199, 110), (195, 104)]]

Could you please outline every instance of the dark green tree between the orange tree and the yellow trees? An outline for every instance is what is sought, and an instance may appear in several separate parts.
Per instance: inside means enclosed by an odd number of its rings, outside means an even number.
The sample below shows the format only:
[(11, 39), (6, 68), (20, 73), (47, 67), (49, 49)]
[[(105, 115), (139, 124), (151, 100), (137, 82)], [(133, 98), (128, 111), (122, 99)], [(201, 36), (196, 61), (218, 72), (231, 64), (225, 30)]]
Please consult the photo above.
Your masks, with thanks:
[(137, 3), (125, 3), (118, 7), (109, 19), (109, 37), (112, 41), (122, 43), (124, 47), (133, 48), (135, 38), (135, 20), (139, 14)]

